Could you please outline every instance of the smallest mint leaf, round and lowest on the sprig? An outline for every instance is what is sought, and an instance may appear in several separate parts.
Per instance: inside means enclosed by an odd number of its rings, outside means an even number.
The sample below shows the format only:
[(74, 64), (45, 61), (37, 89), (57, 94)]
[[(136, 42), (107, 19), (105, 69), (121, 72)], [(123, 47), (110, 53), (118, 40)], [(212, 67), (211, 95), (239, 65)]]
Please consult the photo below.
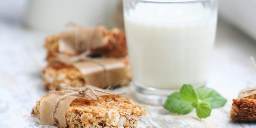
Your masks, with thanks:
[(208, 116), (210, 116), (211, 111), (212, 111), (211, 105), (204, 101), (199, 102), (196, 107), (196, 113), (200, 119), (207, 118)]

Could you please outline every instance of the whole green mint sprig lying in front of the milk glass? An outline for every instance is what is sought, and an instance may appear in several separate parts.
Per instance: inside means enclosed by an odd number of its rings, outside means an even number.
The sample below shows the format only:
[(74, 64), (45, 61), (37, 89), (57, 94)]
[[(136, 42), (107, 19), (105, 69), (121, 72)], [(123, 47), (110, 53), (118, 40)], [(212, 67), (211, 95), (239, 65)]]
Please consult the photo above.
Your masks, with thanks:
[(196, 108), (199, 118), (207, 118), (213, 108), (220, 108), (227, 100), (215, 90), (207, 87), (196, 90), (192, 85), (184, 84), (180, 92), (172, 93), (165, 101), (164, 108), (177, 114), (188, 114)]

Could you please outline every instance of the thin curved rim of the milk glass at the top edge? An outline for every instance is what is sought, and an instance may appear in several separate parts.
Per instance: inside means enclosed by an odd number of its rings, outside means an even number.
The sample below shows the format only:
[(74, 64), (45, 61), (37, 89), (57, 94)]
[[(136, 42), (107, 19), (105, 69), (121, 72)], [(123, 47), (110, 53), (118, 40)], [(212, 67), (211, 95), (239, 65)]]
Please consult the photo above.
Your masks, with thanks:
[(203, 1), (211, 0), (138, 0), (141, 2), (150, 2), (150, 3), (197, 3)]

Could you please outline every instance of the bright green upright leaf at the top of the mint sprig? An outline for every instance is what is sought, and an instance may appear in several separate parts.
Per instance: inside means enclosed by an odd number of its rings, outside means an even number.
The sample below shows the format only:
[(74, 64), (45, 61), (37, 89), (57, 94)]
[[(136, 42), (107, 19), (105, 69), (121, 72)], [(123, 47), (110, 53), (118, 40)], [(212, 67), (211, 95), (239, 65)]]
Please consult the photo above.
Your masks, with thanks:
[(193, 103), (199, 99), (196, 89), (190, 84), (184, 84), (181, 87), (180, 97), (182, 100), (189, 103)]

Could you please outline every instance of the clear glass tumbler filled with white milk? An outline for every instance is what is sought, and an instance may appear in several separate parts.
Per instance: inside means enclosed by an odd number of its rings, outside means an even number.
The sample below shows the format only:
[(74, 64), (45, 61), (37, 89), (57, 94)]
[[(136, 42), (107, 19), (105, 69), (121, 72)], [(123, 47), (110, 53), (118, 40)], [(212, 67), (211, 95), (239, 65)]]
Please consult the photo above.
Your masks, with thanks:
[(183, 84), (207, 82), (217, 0), (123, 0), (133, 85), (139, 100), (161, 104)]

